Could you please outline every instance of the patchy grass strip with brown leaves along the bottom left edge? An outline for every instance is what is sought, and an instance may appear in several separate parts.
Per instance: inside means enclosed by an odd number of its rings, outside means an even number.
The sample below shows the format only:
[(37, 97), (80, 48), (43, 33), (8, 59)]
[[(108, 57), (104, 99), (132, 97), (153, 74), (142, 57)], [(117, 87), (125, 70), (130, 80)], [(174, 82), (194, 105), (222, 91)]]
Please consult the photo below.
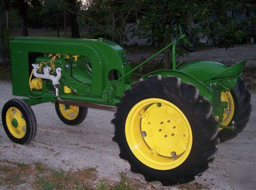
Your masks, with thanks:
[(98, 190), (133, 190), (139, 189), (143, 183), (128, 178), (125, 173), (120, 173), (120, 181), (98, 179), (95, 168), (86, 168), (77, 171), (63, 171), (52, 169), (35, 162), (27, 165), (23, 162), (0, 161), (0, 188), (8, 186), (16, 188), (26, 184), (33, 189), (98, 189)]

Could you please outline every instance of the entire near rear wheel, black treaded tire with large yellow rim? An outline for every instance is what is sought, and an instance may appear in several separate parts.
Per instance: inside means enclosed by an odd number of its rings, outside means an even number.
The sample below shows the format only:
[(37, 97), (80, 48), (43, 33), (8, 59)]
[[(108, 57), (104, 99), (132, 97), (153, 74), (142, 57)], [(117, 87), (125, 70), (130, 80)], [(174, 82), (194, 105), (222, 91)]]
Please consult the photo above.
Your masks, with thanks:
[(112, 123), (119, 156), (146, 181), (194, 180), (217, 152), (219, 129), (210, 102), (180, 78), (159, 75), (134, 83)]

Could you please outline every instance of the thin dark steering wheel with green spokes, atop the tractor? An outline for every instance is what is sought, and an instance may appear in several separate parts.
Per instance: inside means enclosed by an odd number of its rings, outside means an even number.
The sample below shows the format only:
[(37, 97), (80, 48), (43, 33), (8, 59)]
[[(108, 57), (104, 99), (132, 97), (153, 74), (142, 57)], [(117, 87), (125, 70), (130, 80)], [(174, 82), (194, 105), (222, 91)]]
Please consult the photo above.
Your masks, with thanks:
[(172, 21), (172, 32), (180, 43), (180, 45), (186, 49), (187, 51), (193, 52), (196, 49), (194, 38), (191, 36), (190, 32), (186, 28), (186, 26), (177, 21)]

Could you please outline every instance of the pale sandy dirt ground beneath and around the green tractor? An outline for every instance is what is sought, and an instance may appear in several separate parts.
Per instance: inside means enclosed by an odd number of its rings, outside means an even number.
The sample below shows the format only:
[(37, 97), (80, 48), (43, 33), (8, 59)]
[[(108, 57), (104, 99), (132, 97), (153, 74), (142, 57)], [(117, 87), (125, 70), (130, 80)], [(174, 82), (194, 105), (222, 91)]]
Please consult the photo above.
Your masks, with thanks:
[[(10, 98), (12, 88), (10, 82), (0, 82), (0, 107)], [(219, 144), (218, 154), (209, 169), (195, 181), (207, 188), (229, 189), (229, 168), (236, 164), (255, 164), (256, 162), (256, 94), (251, 94), (252, 113), (245, 130), (237, 138)], [(112, 142), (114, 126), (110, 123), (113, 112), (89, 109), (88, 117), (79, 126), (63, 124), (57, 117), (54, 104), (45, 103), (32, 106), (37, 119), (37, 134), (29, 145), (12, 143), (0, 124), (0, 160), (13, 162), (40, 162), (50, 168), (65, 171), (96, 168), (98, 178), (119, 180), (119, 173), (138, 179), (145, 183), (140, 174), (130, 171), (129, 164), (120, 159), (119, 148)], [(189, 187), (188, 184), (188, 187)], [(159, 182), (147, 183), (148, 189), (156, 188), (177, 189), (174, 185), (163, 187)], [(3, 187), (3, 186), (2, 186)], [(2, 188), (0, 184), (0, 189)], [(4, 188), (4, 187), (3, 187)]]

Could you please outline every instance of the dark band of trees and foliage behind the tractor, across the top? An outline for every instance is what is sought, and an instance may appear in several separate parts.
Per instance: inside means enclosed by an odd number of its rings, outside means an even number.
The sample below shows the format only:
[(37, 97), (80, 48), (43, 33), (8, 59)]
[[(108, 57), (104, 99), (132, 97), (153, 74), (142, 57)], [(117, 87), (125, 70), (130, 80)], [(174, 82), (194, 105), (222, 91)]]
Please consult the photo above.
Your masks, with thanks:
[[(229, 48), (253, 34), (255, 8), (252, 0), (0, 0), (2, 58), (9, 58), (13, 35), (38, 35), (30, 34), (36, 29), (40, 36), (103, 37), (121, 46), (130, 33), (147, 39), (148, 45), (163, 46), (172, 41), (173, 19), (189, 26), (196, 39), (207, 37)], [(169, 51), (164, 63), (170, 68)]]

